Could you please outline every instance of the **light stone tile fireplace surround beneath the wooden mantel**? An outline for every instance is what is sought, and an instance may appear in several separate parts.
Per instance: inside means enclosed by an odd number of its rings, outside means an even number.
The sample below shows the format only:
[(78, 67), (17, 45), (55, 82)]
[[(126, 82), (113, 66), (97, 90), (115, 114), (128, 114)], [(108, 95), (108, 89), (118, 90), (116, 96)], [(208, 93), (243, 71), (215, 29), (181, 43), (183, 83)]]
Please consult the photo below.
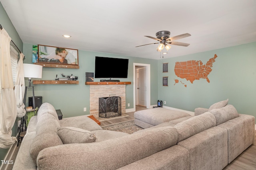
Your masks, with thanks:
[(126, 110), (126, 84), (90, 85), (90, 115), (99, 117), (99, 98), (119, 96), (121, 113)]

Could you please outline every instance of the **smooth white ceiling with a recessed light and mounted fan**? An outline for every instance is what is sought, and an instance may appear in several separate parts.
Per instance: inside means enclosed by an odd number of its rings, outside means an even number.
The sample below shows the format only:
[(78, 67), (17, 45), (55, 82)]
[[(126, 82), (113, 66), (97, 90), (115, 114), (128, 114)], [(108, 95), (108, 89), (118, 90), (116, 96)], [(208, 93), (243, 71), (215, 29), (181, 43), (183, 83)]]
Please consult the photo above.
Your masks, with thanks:
[(192, 35), (176, 40), (188, 47), (172, 45), (164, 58), (256, 41), (256, 0), (0, 2), (23, 43), (160, 59), (158, 44), (135, 47), (158, 42), (144, 35), (156, 37), (163, 30), (170, 31), (170, 37)]

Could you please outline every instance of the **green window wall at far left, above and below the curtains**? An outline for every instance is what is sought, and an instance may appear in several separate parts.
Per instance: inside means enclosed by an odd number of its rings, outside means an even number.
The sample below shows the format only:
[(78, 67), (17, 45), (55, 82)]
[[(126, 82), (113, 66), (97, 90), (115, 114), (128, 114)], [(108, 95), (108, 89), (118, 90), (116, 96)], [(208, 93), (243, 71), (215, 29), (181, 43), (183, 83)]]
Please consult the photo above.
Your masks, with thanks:
[[(8, 32), (9, 36), (12, 38), (12, 41), (18, 46), (18, 48), (22, 51), (23, 43), (18, 35), (16, 29), (12, 25), (8, 15), (6, 14), (2, 4), (0, 3), (0, 24), (2, 27)], [(14, 123), (14, 127), (12, 128), (12, 136), (16, 136), (18, 133), (18, 120)], [(0, 160), (4, 160), (9, 149), (0, 149)], [(2, 164), (2, 161), (0, 162)]]

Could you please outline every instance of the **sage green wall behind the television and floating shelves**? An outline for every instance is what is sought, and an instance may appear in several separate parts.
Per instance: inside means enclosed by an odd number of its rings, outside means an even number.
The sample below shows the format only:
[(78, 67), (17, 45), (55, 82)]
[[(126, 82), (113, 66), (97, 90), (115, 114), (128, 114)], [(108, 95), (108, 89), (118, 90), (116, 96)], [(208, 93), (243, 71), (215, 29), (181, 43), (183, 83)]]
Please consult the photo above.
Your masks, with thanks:
[[(24, 43), (23, 50), (26, 56), (24, 63), (32, 63), (32, 44)], [(156, 81), (157, 60), (82, 50), (78, 50), (79, 69), (43, 67), (41, 79), (54, 80), (56, 74), (58, 74), (58, 77), (62, 77), (61, 73), (64, 75), (73, 74), (73, 76), (78, 76), (79, 84), (36, 84), (34, 85), (35, 96), (43, 96), (43, 102), (52, 104), (55, 109), (61, 109), (63, 117), (90, 114), (90, 86), (85, 85), (85, 72), (94, 72), (95, 56), (129, 59), (128, 78), (120, 79), (120, 81), (132, 82), (132, 84), (126, 85), (126, 109), (133, 108), (133, 63), (150, 64), (150, 79), (152, 80), (150, 85), (151, 105), (156, 104), (158, 100), (158, 83)], [(97, 82), (100, 81), (100, 79), (94, 79), (94, 81)], [(25, 82), (28, 83), (27, 81)], [(28, 90), (27, 97), (28, 96), (32, 96), (31, 90)], [(26, 99), (26, 103), (28, 103), (28, 99)], [(130, 107), (127, 106), (128, 103)], [(86, 107), (86, 112), (84, 112), (84, 107)]]

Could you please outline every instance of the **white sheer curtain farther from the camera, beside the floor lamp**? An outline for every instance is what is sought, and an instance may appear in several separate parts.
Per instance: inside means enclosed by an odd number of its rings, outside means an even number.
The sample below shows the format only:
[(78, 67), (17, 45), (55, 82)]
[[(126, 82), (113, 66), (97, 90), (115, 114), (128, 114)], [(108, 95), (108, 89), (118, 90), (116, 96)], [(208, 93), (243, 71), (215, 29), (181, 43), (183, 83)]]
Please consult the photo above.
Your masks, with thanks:
[(26, 114), (25, 105), (23, 103), (25, 93), (25, 80), (23, 68), (24, 55), (20, 53), (20, 60), (18, 61), (16, 80), (15, 80), (15, 96), (17, 105), (17, 117), (23, 117)]

